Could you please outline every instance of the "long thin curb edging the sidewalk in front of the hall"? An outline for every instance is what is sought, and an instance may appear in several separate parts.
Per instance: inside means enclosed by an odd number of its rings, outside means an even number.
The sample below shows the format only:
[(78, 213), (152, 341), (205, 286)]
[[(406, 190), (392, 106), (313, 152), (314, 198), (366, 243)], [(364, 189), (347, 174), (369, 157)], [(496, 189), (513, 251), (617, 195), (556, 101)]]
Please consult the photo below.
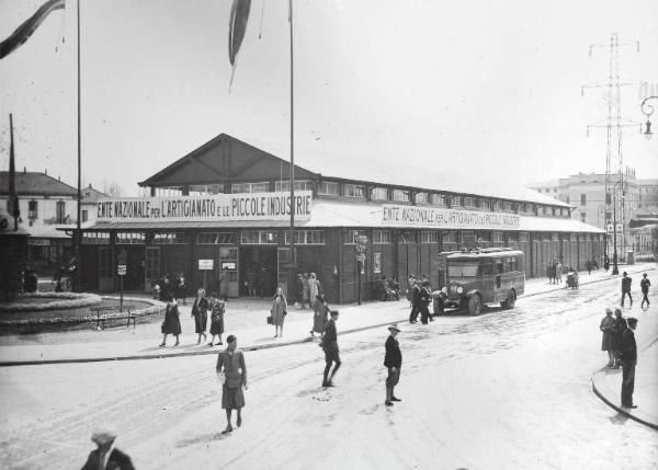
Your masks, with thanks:
[[(650, 268), (645, 268), (645, 270), (639, 270), (639, 271), (655, 271), (656, 267), (650, 267)], [(632, 274), (635, 274), (636, 272), (632, 272)], [(586, 283), (580, 283), (579, 285), (588, 285), (588, 284), (595, 284), (595, 283), (603, 283), (606, 280), (612, 280), (615, 279), (616, 277), (605, 277), (602, 279), (592, 279), (592, 280), (588, 280)], [(535, 296), (541, 296), (544, 294), (549, 294), (549, 293), (554, 293), (557, 290), (563, 289), (561, 285), (558, 288), (552, 288), (549, 290), (543, 290), (540, 293), (532, 293), (532, 294), (527, 294), (527, 295), (523, 295), (523, 297), (535, 297)], [(124, 298), (125, 300), (125, 298)], [(401, 320), (397, 320), (398, 323), (400, 322), (405, 322), (408, 320), (408, 317), (405, 317)], [(366, 325), (366, 326), (359, 326), (352, 330), (345, 330), (345, 331), (341, 331), (339, 333), (339, 335), (342, 334), (351, 334), (351, 333), (359, 333), (362, 331), (366, 331), (366, 330), (372, 330), (375, 328), (383, 328), (386, 325), (389, 325), (392, 322), (386, 322), (386, 323), (378, 323), (378, 324), (371, 324), (371, 325)], [(249, 352), (249, 351), (260, 351), (260, 349), (270, 349), (270, 348), (274, 348), (274, 347), (283, 347), (283, 346), (293, 346), (293, 345), (298, 345), (298, 344), (304, 344), (304, 343), (308, 343), (309, 340), (308, 339), (302, 339), (302, 340), (295, 340), (295, 341), (290, 341), (286, 343), (276, 343), (276, 344), (263, 344), (263, 345), (259, 345), (259, 346), (249, 346), (249, 347), (240, 347), (241, 351), (245, 352)], [(116, 356), (116, 357), (90, 357), (90, 358), (70, 358), (70, 359), (38, 359), (38, 360), (9, 360), (9, 362), (0, 362), (0, 367), (13, 367), (13, 366), (41, 366), (41, 365), (46, 365), (46, 364), (83, 364), (83, 363), (104, 363), (104, 362), (113, 362), (113, 360), (141, 360), (141, 359), (166, 359), (169, 357), (184, 357), (184, 356), (202, 356), (202, 355), (207, 355), (207, 354), (217, 354), (219, 349), (211, 349), (211, 351), (190, 351), (190, 352), (184, 352), (184, 353), (173, 353), (173, 354), (140, 354), (140, 355), (132, 355), (132, 356)], [(592, 379), (593, 380), (593, 379)], [(597, 392), (594, 390), (594, 392)], [(603, 401), (605, 401), (602, 398)], [(612, 404), (611, 404), (612, 405)]]

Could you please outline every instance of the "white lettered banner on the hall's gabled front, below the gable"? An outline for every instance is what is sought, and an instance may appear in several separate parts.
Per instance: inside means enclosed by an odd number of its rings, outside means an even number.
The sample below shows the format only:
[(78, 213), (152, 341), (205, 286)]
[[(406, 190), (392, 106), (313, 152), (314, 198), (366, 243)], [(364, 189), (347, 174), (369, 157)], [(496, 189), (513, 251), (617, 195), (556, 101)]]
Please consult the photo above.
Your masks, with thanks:
[[(313, 192), (295, 192), (295, 218), (310, 218)], [(104, 222), (211, 222), (218, 220), (290, 220), (291, 194), (240, 193), (179, 197), (101, 199), (98, 220)]]

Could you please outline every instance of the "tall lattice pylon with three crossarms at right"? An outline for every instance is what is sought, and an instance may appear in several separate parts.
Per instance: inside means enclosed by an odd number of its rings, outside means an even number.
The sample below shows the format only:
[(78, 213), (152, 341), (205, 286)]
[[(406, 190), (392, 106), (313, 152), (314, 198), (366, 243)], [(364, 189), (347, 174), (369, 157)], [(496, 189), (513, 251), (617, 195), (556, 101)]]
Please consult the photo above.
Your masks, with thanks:
[[(605, 226), (610, 225), (610, 215), (614, 214), (614, 221), (612, 226), (613, 230), (613, 268), (612, 274), (619, 274), (617, 267), (617, 242), (616, 242), (616, 205), (620, 198), (617, 197), (617, 190), (622, 191), (622, 206), (624, 206), (625, 199), (625, 185), (624, 185), (624, 170), (623, 170), (623, 151), (622, 151), (622, 134), (624, 127), (636, 127), (639, 126), (642, 133), (642, 124), (634, 121), (624, 119), (622, 117), (622, 99), (621, 88), (627, 85), (639, 84), (636, 82), (622, 82), (620, 79), (620, 46), (635, 46), (639, 53), (639, 42), (637, 41), (620, 41), (616, 33), (610, 35), (610, 41), (604, 43), (592, 44), (589, 47), (589, 55), (595, 48), (605, 48), (609, 50), (609, 67), (608, 67), (608, 82), (606, 83), (594, 83), (586, 84), (580, 88), (580, 94), (585, 95), (585, 89), (587, 88), (605, 88), (606, 89), (606, 103), (608, 103), (608, 117), (605, 119), (592, 123), (587, 126), (587, 135), (589, 137), (590, 128), (604, 128), (606, 130), (606, 147), (605, 147)], [(616, 173), (616, 176), (613, 175)], [(611, 195), (611, 190), (614, 191), (614, 195)], [(613, 205), (611, 210), (611, 205)], [(626, 227), (626, 217), (624, 208), (621, 210), (622, 226)], [(625, 233), (624, 237), (625, 247)], [(609, 241), (605, 241), (604, 245), (605, 257), (610, 254)]]

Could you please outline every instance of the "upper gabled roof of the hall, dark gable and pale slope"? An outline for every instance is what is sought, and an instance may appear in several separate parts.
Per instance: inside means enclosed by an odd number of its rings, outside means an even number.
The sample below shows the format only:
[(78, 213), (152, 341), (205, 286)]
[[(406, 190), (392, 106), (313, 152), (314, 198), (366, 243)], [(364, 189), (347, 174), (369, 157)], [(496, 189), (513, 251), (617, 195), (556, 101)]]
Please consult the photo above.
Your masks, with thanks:
[[(235, 161), (236, 158), (242, 159)], [(308, 161), (308, 157), (305, 158)], [(568, 204), (545, 196), (514, 182), (513, 172), (503, 172), (506, 177), (483, 175), (474, 169), (468, 174), (454, 171), (460, 162), (447, 167), (428, 162), (423, 168), (413, 168), (406, 161), (383, 162), (367, 157), (352, 159), (350, 164), (338, 159), (316, 159), (317, 163), (295, 165), (295, 177), (324, 177), (354, 181), (372, 185), (389, 185), (400, 188), (442, 191), (455, 194), (521, 200), (558, 207)], [(201, 165), (200, 172), (194, 164)], [(139, 183), (140, 186), (175, 186), (182, 184), (212, 184), (223, 181), (257, 181), (268, 174), (281, 174), (286, 179), (288, 161), (253, 147), (227, 134), (220, 134), (164, 170)], [(202, 173), (202, 174), (200, 174)], [(224, 180), (223, 180), (224, 179)]]

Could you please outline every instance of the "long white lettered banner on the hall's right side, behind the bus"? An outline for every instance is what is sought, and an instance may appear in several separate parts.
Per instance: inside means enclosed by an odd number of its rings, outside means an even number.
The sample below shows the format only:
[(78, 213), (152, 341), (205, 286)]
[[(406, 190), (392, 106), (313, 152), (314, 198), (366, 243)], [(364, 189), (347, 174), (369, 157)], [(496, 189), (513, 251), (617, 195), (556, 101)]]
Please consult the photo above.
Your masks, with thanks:
[(518, 214), (384, 204), (382, 223), (428, 229), (519, 229)]

